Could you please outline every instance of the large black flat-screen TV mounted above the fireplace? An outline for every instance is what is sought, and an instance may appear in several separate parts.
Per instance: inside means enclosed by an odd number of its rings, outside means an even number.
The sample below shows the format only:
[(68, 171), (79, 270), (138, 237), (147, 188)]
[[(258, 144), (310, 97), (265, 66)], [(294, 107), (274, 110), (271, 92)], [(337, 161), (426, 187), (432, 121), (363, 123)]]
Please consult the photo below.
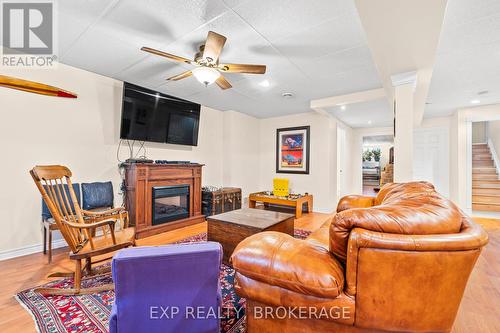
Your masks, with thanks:
[(198, 145), (200, 104), (123, 84), (120, 138)]

